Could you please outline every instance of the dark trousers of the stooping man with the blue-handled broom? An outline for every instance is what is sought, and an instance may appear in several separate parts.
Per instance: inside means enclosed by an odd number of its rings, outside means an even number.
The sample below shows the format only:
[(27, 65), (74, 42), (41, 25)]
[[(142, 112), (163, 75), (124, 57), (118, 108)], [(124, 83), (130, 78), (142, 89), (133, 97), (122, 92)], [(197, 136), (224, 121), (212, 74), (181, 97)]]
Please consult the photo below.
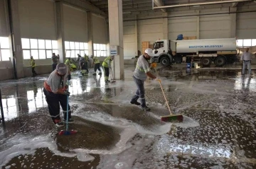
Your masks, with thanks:
[[(48, 109), (50, 112), (50, 117), (56, 124), (60, 122), (60, 106), (63, 109), (64, 120), (67, 120), (67, 95), (55, 94), (47, 91), (43, 88), (43, 93), (46, 95), (46, 102), (48, 104)], [(68, 105), (68, 119), (71, 119), (70, 105)]]

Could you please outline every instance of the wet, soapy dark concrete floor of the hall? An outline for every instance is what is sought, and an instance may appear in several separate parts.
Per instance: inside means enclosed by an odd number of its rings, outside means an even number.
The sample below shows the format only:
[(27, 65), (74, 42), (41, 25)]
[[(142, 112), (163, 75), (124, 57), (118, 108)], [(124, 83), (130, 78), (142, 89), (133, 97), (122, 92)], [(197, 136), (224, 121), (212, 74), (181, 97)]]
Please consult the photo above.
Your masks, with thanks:
[[(159, 67), (159, 83), (145, 82), (150, 112), (130, 105), (134, 66), (125, 81), (73, 72), (70, 105), (77, 134), (59, 136), (42, 92), (47, 75), (1, 81), (5, 124), (1, 168), (256, 168), (256, 77), (240, 70)], [(65, 128), (63, 128), (65, 129)]]

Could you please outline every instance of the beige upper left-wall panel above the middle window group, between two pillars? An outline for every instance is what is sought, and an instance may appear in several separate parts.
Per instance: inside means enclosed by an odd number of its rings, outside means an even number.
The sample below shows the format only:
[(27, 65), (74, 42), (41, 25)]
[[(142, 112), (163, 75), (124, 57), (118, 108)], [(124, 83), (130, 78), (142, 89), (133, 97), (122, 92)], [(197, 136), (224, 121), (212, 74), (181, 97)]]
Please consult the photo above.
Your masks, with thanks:
[(65, 41), (87, 42), (87, 16), (85, 11), (63, 6)]

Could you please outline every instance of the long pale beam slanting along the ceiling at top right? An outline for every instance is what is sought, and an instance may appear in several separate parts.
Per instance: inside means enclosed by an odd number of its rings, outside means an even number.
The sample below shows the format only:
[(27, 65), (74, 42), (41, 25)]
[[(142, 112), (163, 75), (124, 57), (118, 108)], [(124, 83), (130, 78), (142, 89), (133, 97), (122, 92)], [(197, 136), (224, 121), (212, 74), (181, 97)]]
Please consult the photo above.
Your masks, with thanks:
[(201, 3), (191, 3), (191, 4), (178, 4), (178, 5), (171, 5), (171, 6), (157, 6), (154, 8), (176, 8), (182, 6), (201, 6), (201, 5), (211, 5), (211, 4), (228, 4), (233, 2), (242, 2), (242, 1), (251, 1), (251, 0), (230, 0), (230, 1), (211, 1), (211, 2), (201, 2)]

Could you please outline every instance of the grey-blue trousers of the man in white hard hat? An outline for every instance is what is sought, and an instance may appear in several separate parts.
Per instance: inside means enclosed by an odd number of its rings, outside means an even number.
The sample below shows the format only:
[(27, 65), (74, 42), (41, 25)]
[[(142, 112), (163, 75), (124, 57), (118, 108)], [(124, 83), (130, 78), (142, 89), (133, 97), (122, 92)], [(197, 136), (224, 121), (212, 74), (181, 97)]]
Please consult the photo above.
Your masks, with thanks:
[(132, 102), (137, 101), (139, 98), (141, 99), (141, 106), (146, 107), (146, 99), (145, 99), (145, 89), (144, 89), (144, 81), (139, 80), (138, 78), (134, 78), (134, 82), (137, 85), (136, 94), (132, 97)]

